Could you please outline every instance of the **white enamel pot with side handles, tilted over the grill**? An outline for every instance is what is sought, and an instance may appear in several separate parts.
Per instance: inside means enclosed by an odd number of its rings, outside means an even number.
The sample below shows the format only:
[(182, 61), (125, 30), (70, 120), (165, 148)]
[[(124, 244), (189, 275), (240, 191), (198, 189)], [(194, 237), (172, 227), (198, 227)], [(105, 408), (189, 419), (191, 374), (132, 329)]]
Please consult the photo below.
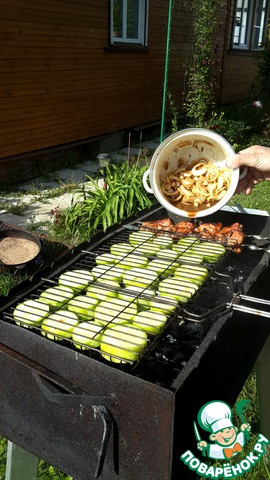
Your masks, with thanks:
[[(239, 169), (232, 170), (231, 182), (225, 196), (210, 208), (198, 211), (185, 211), (173, 205), (166, 198), (161, 189), (161, 177), (167, 177), (168, 172), (178, 168), (179, 158), (189, 161), (200, 159), (202, 156), (218, 166), (225, 166), (229, 157), (235, 152), (232, 146), (221, 135), (203, 128), (188, 128), (170, 135), (154, 152), (150, 168), (143, 176), (144, 188), (153, 193), (158, 202), (168, 212), (181, 217), (204, 217), (223, 207), (232, 197), (239, 178), (243, 178), (246, 170), (239, 176)], [(148, 185), (148, 177), (150, 185)]]

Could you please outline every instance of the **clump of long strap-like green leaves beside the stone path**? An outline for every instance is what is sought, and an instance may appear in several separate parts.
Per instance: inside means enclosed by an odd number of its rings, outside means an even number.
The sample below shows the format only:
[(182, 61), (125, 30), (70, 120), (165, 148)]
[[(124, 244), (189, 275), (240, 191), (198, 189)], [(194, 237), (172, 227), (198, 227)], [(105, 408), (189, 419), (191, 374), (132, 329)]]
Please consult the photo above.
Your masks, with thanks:
[(105, 232), (111, 225), (150, 207), (154, 197), (145, 191), (142, 183), (147, 169), (148, 165), (141, 165), (138, 156), (132, 164), (109, 165), (106, 185), (88, 177), (88, 182), (78, 189), (71, 207), (62, 212), (61, 225), (74, 239), (89, 240), (97, 231)]

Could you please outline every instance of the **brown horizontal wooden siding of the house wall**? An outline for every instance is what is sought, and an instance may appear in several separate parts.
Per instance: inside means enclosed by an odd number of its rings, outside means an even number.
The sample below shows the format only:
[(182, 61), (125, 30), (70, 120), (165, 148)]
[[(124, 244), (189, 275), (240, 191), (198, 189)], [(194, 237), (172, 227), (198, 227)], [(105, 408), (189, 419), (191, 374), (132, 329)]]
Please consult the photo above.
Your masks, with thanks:
[[(147, 49), (110, 51), (109, 0), (0, 0), (0, 166), (160, 121), (168, 3), (149, 1)], [(192, 52), (190, 3), (178, 0), (173, 9), (168, 90), (180, 107)], [(226, 49), (218, 98), (247, 96), (253, 76), (252, 58)]]

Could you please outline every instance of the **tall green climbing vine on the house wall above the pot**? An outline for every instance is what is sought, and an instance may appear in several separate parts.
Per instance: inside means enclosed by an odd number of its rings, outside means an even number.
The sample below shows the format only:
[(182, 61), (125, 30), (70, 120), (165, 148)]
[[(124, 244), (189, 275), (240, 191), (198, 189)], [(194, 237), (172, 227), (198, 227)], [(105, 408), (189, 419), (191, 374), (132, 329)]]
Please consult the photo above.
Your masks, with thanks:
[(193, 0), (194, 46), (186, 71), (188, 91), (184, 106), (188, 121), (198, 127), (204, 126), (209, 108), (213, 106), (213, 56), (219, 50), (215, 42), (218, 11), (215, 0)]

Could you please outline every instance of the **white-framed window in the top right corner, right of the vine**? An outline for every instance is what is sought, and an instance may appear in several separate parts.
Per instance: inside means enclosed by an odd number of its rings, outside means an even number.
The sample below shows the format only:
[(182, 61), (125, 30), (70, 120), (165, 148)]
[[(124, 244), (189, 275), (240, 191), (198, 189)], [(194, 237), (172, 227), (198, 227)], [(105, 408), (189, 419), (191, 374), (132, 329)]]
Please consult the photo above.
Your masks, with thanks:
[(266, 35), (269, 0), (236, 0), (232, 48), (260, 50)]

